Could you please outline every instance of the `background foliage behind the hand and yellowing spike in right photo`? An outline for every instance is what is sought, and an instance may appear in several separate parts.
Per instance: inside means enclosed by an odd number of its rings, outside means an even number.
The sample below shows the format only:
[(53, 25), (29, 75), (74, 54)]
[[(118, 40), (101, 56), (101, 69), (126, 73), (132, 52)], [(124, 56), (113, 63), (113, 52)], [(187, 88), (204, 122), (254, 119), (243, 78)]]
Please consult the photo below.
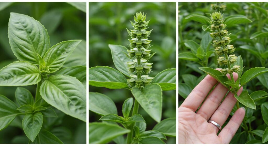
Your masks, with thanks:
[[(196, 22), (187, 19), (191, 14), (199, 14), (202, 16), (210, 17), (210, 13), (214, 12), (211, 9), (211, 4), (216, 2), (179, 2), (179, 53), (190, 52), (189, 47), (185, 45), (187, 41), (192, 40), (197, 44), (201, 43), (202, 38), (209, 31), (204, 31), (200, 22)], [(267, 17), (267, 2), (224, 2), (226, 5), (224, 19), (228, 16), (234, 16), (237, 14), (243, 15), (250, 19), (252, 22), (241, 23), (236, 25), (227, 25), (228, 33), (230, 34), (231, 44), (236, 47), (234, 52), (236, 56), (241, 55), (244, 63), (243, 72), (253, 67), (268, 67), (268, 17)], [(260, 32), (262, 35), (257, 35)], [(211, 41), (211, 40), (210, 40)], [(214, 50), (210, 45), (209, 50)], [(210, 55), (207, 67), (219, 68), (217, 66), (217, 57), (214, 53)], [(193, 87), (197, 85), (206, 75), (204, 72), (198, 69), (202, 67), (200, 64), (179, 59), (179, 106), (184, 99), (192, 91)], [(192, 82), (190, 81), (192, 80)], [(243, 89), (247, 89), (249, 94), (257, 90), (268, 91), (268, 73), (258, 76), (243, 86)], [(188, 83), (187, 83), (188, 82)], [(191, 83), (192, 84), (191, 84)], [(268, 102), (267, 98), (261, 99), (256, 103), (257, 110), (247, 109), (246, 117), (247, 123), (252, 129), (264, 130), (267, 124), (263, 121), (264, 118), (261, 114), (261, 104)], [(231, 113), (233, 114), (233, 112)], [(230, 119), (230, 117), (229, 117)], [(227, 120), (229, 121), (229, 120)], [(243, 131), (243, 130), (242, 130)], [(263, 131), (262, 131), (263, 132)], [(241, 126), (237, 131), (235, 137), (231, 143), (244, 144), (252, 139), (261, 140), (261, 137), (252, 135), (246, 132), (241, 132)]]

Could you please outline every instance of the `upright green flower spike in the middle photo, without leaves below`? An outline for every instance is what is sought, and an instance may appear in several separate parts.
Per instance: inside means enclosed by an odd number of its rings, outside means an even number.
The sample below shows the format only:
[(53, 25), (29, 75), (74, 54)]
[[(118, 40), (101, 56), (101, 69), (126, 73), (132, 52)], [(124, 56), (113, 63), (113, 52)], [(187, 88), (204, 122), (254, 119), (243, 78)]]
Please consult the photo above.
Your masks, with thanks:
[(130, 21), (134, 29), (127, 29), (131, 39), (129, 40), (130, 49), (128, 50), (128, 54), (125, 53), (129, 59), (133, 59), (133, 61), (127, 62), (129, 73), (136, 73), (136, 75), (130, 75), (132, 78), (127, 79), (128, 84), (130, 87), (138, 87), (140, 89), (150, 84), (153, 79), (148, 76), (151, 72), (152, 63), (148, 63), (147, 61), (155, 54), (150, 54), (151, 49), (149, 48), (151, 47), (151, 40), (148, 40), (148, 37), (152, 30), (146, 30), (150, 20), (145, 20), (146, 15), (138, 12), (136, 16), (134, 16), (134, 23)]

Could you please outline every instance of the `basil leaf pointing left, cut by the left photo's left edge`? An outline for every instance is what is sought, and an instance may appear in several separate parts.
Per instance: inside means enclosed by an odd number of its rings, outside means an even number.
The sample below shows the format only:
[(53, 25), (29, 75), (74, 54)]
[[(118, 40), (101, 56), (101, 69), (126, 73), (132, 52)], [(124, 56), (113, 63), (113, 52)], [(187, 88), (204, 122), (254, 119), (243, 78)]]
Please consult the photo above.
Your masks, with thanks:
[(39, 69), (26, 61), (17, 61), (0, 70), (0, 86), (28, 86), (41, 80)]

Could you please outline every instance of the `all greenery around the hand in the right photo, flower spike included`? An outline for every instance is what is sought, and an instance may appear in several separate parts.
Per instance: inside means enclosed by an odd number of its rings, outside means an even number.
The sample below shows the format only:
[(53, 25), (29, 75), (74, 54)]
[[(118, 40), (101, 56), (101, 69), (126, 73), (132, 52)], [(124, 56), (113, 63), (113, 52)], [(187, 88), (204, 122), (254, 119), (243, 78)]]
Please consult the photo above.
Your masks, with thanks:
[(179, 105), (204, 76), (217, 79), (237, 99), (228, 119), (246, 107), (233, 144), (268, 141), (267, 7), (266, 2), (179, 3)]

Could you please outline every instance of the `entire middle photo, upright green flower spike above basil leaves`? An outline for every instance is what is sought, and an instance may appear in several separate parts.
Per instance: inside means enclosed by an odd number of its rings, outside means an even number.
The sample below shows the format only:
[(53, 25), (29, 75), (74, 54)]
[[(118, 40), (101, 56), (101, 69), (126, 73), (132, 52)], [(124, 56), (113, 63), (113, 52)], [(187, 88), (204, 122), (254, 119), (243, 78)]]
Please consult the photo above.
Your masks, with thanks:
[(89, 6), (89, 143), (176, 143), (175, 3)]

